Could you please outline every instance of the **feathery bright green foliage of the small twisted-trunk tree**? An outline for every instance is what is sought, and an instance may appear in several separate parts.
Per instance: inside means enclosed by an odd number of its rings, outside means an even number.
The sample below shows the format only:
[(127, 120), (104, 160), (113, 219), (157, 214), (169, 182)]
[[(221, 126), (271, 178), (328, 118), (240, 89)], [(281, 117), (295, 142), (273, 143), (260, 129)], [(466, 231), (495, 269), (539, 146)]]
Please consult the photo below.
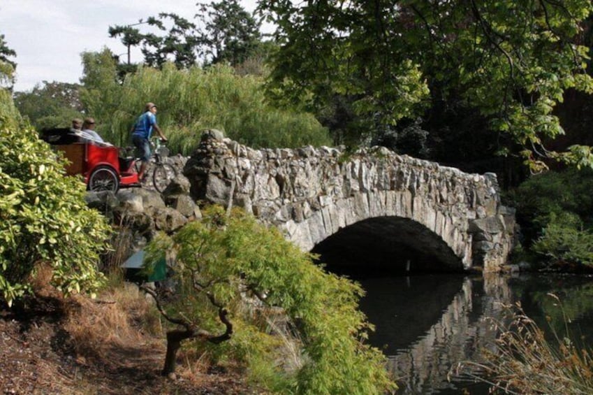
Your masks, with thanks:
[[(215, 333), (221, 324), (209, 298), (229, 310), (233, 337), (198, 347), (220, 363), (239, 361), (260, 385), (281, 394), (383, 394), (393, 389), (383, 355), (362, 341), (369, 324), (357, 309), (363, 294), (358, 285), (324, 273), (277, 229), (249, 215), (235, 210), (227, 216), (219, 207), (204, 213), (203, 221), (186, 224), (172, 237), (161, 235), (148, 250), (152, 261), (163, 250), (176, 257), (180, 296), (171, 302), (170, 315)], [(274, 315), (286, 315), (288, 332), (298, 335), (296, 368), (280, 362), (287, 356), (281, 353), (281, 339), (270, 333)]]

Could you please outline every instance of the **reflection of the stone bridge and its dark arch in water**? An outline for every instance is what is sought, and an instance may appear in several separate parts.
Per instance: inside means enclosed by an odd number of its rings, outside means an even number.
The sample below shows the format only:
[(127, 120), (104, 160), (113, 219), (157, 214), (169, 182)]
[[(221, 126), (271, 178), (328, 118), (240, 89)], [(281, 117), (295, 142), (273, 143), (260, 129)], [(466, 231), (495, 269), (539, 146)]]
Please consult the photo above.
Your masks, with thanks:
[(448, 376), (460, 361), (479, 361), (495, 340), (490, 318), (512, 299), (499, 275), (417, 275), (358, 280), (361, 308), (376, 325), (369, 342), (388, 356), (397, 394), (488, 394), (488, 387)]

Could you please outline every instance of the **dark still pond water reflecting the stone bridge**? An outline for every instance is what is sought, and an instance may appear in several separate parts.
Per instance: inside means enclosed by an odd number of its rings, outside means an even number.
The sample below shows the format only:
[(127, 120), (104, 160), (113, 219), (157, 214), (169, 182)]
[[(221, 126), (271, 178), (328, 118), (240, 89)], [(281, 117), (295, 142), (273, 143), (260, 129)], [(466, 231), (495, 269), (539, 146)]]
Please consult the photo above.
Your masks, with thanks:
[[(497, 336), (492, 319), (519, 302), (550, 334), (591, 345), (593, 278), (576, 275), (413, 275), (354, 278), (367, 295), (361, 308), (376, 326), (369, 341), (386, 354), (397, 394), (488, 394), (488, 385), (456, 375), (460, 361), (480, 361)], [(555, 306), (556, 305), (556, 306)], [(550, 317), (548, 324), (546, 316)]]

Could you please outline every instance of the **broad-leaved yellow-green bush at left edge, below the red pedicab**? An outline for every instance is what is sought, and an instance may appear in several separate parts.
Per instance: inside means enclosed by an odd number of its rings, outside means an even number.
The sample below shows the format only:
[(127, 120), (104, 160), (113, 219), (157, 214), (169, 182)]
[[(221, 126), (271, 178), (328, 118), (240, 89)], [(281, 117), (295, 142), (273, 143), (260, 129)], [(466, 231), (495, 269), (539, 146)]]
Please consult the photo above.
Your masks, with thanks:
[(64, 294), (93, 292), (110, 229), (87, 208), (85, 185), (32, 129), (0, 126), (0, 295), (9, 305), (31, 291), (37, 264)]

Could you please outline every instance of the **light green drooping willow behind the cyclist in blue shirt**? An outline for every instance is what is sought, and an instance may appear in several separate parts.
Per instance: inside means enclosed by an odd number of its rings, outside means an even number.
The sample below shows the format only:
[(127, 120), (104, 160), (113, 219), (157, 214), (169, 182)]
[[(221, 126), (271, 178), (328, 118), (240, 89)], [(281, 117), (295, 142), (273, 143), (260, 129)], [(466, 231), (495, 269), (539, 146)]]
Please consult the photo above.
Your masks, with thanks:
[(178, 70), (166, 64), (161, 70), (143, 67), (119, 85), (115, 62), (105, 52), (83, 55), (81, 96), (99, 122), (98, 133), (116, 145), (130, 145), (131, 126), (147, 101), (159, 106), (157, 120), (174, 153), (189, 155), (205, 129), (220, 129), (252, 147), (330, 143), (312, 115), (270, 106), (261, 78), (237, 76), (228, 66)]

